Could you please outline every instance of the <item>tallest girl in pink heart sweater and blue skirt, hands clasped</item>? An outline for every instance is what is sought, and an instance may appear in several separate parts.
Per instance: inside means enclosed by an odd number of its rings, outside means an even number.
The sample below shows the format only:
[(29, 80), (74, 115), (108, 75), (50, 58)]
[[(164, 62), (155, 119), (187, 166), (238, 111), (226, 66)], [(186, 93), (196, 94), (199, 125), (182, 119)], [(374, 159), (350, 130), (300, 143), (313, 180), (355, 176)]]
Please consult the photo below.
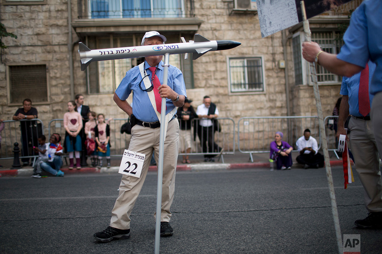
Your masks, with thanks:
[(68, 102), (68, 111), (69, 112), (64, 114), (64, 128), (66, 130), (64, 148), (65, 152), (69, 153), (69, 169), (73, 169), (74, 167), (73, 153), (76, 157), (76, 168), (81, 169), (79, 156), (82, 150), (82, 141), (78, 133), (82, 129), (82, 118), (81, 114), (76, 111), (76, 102)]

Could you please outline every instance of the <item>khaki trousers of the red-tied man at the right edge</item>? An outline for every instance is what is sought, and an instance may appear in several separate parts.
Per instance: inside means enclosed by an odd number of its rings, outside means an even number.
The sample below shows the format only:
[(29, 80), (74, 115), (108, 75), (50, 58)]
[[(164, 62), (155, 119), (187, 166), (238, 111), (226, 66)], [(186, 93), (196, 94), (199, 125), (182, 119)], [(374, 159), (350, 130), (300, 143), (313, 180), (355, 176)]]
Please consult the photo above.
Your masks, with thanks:
[(382, 181), (379, 154), (371, 121), (351, 117), (350, 147), (356, 171), (365, 190), (365, 206), (369, 212), (382, 211)]

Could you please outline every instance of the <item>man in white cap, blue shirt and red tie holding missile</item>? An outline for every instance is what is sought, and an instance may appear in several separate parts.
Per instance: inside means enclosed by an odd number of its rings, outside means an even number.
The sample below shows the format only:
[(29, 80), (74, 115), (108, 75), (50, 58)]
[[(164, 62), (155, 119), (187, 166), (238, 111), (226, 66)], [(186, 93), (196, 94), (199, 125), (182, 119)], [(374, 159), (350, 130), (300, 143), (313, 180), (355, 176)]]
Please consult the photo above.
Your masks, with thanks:
[[(160, 45), (166, 38), (156, 31), (146, 32), (142, 45)], [(94, 234), (100, 242), (130, 237), (130, 214), (146, 178), (152, 153), (159, 157), (160, 126), (167, 127), (163, 155), (162, 208), (160, 235), (170, 236), (170, 206), (174, 198), (175, 169), (178, 160), (179, 123), (175, 119), (176, 107), (183, 106), (186, 86), (182, 72), (170, 65), (167, 85), (163, 84), (163, 56), (147, 56), (145, 61), (126, 72), (114, 94), (114, 101), (131, 119), (129, 150), (146, 155), (139, 178), (122, 175), (120, 191), (112, 210), (110, 225)], [(126, 101), (133, 92), (133, 104)], [(161, 98), (166, 99), (166, 122), (160, 123)], [(156, 214), (154, 214), (154, 217)]]

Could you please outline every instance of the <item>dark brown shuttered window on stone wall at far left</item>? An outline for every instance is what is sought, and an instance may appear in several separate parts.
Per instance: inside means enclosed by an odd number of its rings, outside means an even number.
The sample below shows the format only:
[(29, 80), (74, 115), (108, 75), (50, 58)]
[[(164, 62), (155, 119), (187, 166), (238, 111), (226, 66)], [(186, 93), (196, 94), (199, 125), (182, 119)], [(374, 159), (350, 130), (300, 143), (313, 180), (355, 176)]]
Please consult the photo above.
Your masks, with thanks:
[(9, 65), (10, 103), (22, 103), (25, 98), (32, 102), (47, 102), (47, 66)]

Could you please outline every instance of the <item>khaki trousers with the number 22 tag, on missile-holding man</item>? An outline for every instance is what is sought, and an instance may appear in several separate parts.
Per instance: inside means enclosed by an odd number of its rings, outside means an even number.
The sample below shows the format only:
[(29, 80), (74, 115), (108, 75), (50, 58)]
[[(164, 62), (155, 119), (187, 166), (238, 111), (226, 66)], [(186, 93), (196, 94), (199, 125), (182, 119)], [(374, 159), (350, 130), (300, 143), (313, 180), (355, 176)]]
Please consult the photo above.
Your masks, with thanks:
[[(122, 175), (120, 191), (112, 210), (110, 226), (119, 229), (130, 228), (130, 214), (141, 192), (142, 185), (149, 169), (152, 153), (155, 161), (159, 161), (160, 128), (151, 129), (140, 125), (131, 128), (129, 150), (146, 155), (141, 177)], [(170, 221), (170, 206), (174, 199), (175, 171), (178, 160), (179, 123), (173, 119), (168, 123), (163, 154), (162, 208), (160, 221)], [(154, 213), (155, 217), (155, 213)]]

